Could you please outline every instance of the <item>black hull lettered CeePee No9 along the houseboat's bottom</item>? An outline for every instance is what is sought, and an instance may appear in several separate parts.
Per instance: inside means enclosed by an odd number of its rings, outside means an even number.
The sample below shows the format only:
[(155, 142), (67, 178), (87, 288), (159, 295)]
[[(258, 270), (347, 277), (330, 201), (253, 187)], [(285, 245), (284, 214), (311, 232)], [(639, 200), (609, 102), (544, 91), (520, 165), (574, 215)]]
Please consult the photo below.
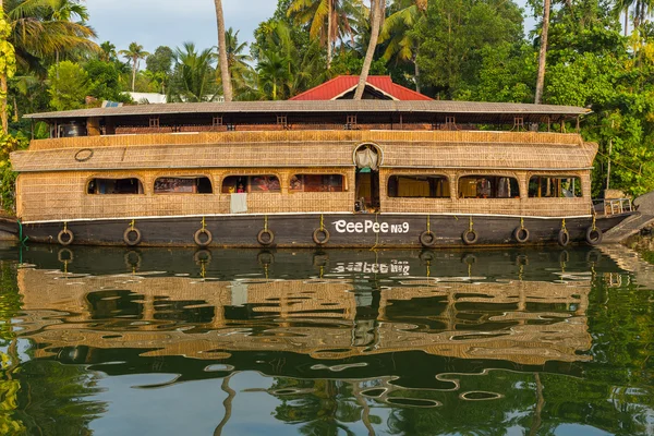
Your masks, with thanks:
[[(617, 226), (630, 214), (597, 218), (596, 227), (603, 232)], [(516, 246), (543, 245), (558, 242), (561, 219), (524, 218), (529, 240), (519, 243), (513, 232), (520, 227), (520, 218), (473, 216), (472, 227), (477, 235), (473, 244), (465, 244), (462, 234), (469, 230), (470, 216), (427, 215), (373, 215), (373, 214), (320, 214), (270, 215), (270, 216), (211, 216), (204, 218), (213, 241), (209, 247), (360, 247), (360, 249), (417, 249), (423, 246), (421, 234), (427, 226), (434, 233), (433, 249), (461, 246)], [(314, 231), (320, 228), (329, 233), (324, 244), (314, 241)], [(427, 223), (428, 222), (428, 223)], [(126, 245), (125, 230), (131, 219), (84, 220), (65, 222), (80, 245)], [(566, 228), (570, 242), (584, 242), (592, 218), (568, 218)], [(194, 234), (203, 227), (202, 217), (143, 218), (134, 220), (141, 232), (138, 246), (193, 246)], [(257, 235), (267, 228), (274, 233), (270, 244), (261, 243)], [(58, 235), (64, 222), (23, 225), (28, 241), (59, 244)], [(135, 234), (132, 233), (131, 237)], [(266, 237), (266, 235), (264, 235)], [(318, 234), (324, 240), (325, 234)], [(265, 239), (265, 238), (264, 238)], [(65, 242), (65, 238), (64, 238)]]

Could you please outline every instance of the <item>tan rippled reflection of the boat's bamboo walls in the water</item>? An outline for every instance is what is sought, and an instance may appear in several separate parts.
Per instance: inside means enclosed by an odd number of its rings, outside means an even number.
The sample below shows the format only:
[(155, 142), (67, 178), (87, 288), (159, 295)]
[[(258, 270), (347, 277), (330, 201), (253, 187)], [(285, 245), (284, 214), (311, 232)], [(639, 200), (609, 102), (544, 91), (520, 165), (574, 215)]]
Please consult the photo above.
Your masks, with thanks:
[[(74, 283), (75, 286), (71, 286)], [(416, 351), (460, 359), (500, 359), (518, 364), (541, 365), (547, 361), (588, 361), (580, 354), (591, 347), (588, 332), (585, 307), (590, 287), (588, 282), (556, 284), (548, 282), (511, 283), (438, 283), (389, 289), (382, 292), (379, 320), (376, 329), (378, 341), (374, 349), (352, 342), (352, 320), (356, 314), (354, 294), (348, 292), (352, 283), (342, 280), (269, 281), (246, 284), (246, 303), (254, 304), (262, 315), (275, 316), (276, 326), (270, 327), (270, 317), (263, 320), (267, 336), (252, 335), (239, 326), (228, 327), (225, 306), (232, 305), (233, 282), (198, 281), (181, 277), (104, 276), (61, 278), (51, 271), (23, 268), (19, 270), (19, 289), (23, 296), (24, 327), (22, 335), (47, 347), (39, 347), (37, 356), (51, 355), (63, 347), (157, 349), (143, 355), (186, 355), (194, 359), (225, 359), (231, 351), (292, 351), (319, 359)], [(447, 288), (446, 288), (447, 287)], [(143, 318), (149, 322), (135, 328), (116, 326), (112, 329), (98, 324), (93, 317), (87, 295), (98, 289), (124, 289), (142, 295)], [(444, 295), (448, 307), (438, 319), (445, 329), (415, 329), (386, 315), (395, 300)], [(484, 296), (472, 296), (484, 295)], [(307, 298), (311, 296), (311, 298)], [(205, 301), (215, 307), (215, 316), (208, 325), (196, 324), (197, 334), (162, 329), (155, 317), (155, 299), (169, 301)], [(498, 304), (498, 318), (488, 320), (516, 320), (511, 330), (497, 330), (497, 335), (480, 337), (470, 329), (458, 329), (457, 324), (468, 318), (458, 317), (457, 304), (483, 302)], [(529, 302), (577, 304), (574, 316), (569, 312), (538, 312), (523, 308)], [(517, 305), (517, 311), (506, 311), (506, 304)], [(491, 308), (493, 311), (493, 308)], [(329, 312), (329, 314), (325, 314)], [(340, 315), (339, 315), (340, 314)], [(546, 325), (530, 320), (549, 317), (560, 318)], [(62, 324), (59, 318), (68, 322)], [(311, 323), (295, 324), (302, 318), (320, 318), (320, 326)], [(117, 322), (118, 318), (111, 322)], [(343, 325), (343, 320), (347, 324)], [(413, 320), (412, 320), (413, 322)], [(76, 323), (76, 324), (70, 324)], [(109, 320), (107, 320), (109, 323)], [(256, 319), (245, 320), (246, 326), (256, 325)], [(235, 324), (230, 320), (229, 324)], [(513, 323), (511, 323), (513, 324)], [(261, 324), (259, 324), (261, 325)], [(332, 325), (325, 328), (324, 325)], [(220, 328), (220, 330), (213, 330)], [(488, 332), (493, 332), (488, 331)], [(228, 335), (229, 334), (229, 335)], [(556, 336), (557, 340), (550, 338)], [(452, 340), (455, 339), (455, 340)], [(343, 351), (335, 352), (332, 350)], [(225, 350), (225, 351), (216, 351)]]

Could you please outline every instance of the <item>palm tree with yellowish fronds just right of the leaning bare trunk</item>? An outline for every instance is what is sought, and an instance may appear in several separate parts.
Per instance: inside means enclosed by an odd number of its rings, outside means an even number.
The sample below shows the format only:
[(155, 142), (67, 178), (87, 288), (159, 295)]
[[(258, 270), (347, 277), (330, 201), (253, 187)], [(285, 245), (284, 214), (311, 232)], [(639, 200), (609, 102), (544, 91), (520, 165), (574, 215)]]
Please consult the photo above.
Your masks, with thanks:
[(412, 32), (417, 22), (425, 15), (427, 0), (395, 0), (391, 14), (385, 20), (379, 33), (379, 44), (388, 41), (383, 59), (391, 59), (413, 64), (415, 88), (420, 93), (420, 70), (416, 57), (420, 38)]

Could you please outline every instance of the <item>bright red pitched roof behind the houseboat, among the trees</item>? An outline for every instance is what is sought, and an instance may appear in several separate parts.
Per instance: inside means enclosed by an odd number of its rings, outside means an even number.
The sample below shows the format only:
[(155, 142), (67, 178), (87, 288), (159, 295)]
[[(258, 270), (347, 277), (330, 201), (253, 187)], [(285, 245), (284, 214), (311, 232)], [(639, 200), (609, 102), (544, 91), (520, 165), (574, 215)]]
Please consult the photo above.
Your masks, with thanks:
[[(290, 100), (334, 100), (352, 90), (358, 84), (358, 75), (339, 75), (315, 88), (290, 98)], [(366, 84), (397, 100), (432, 100), (432, 98), (413, 89), (392, 83), (389, 75), (368, 75)]]

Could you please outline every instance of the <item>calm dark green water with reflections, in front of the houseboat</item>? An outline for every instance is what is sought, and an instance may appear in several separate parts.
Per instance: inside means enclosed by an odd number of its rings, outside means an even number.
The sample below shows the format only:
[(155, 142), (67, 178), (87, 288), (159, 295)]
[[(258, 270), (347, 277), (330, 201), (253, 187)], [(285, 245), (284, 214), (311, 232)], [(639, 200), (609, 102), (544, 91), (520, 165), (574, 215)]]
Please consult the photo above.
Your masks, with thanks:
[(0, 433), (654, 435), (652, 256), (602, 250), (4, 247)]

